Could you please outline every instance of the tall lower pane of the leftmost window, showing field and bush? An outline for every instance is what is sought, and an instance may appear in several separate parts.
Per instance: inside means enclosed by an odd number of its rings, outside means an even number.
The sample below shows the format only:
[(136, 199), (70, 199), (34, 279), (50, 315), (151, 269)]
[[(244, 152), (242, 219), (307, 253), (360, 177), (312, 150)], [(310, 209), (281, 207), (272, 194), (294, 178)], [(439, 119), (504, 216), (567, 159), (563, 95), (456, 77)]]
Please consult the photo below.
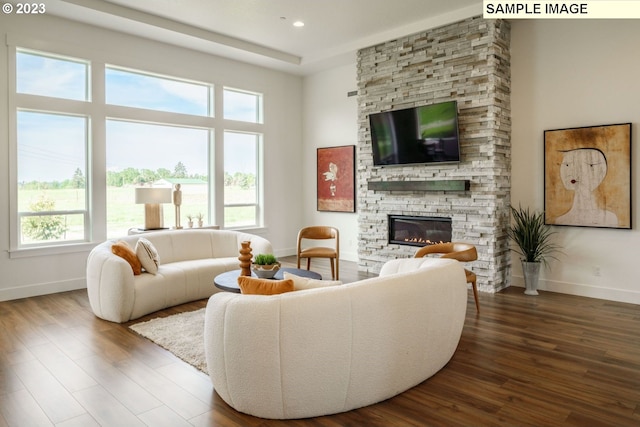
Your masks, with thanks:
[(84, 240), (87, 122), (86, 117), (18, 111), (21, 245)]

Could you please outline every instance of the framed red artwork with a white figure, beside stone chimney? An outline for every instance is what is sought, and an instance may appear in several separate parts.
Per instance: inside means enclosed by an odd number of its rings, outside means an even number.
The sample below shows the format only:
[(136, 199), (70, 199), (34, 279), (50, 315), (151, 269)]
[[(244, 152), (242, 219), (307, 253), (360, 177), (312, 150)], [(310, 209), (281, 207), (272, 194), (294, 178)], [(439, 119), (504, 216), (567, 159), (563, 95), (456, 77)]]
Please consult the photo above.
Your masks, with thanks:
[(318, 210), (355, 212), (355, 145), (318, 148)]

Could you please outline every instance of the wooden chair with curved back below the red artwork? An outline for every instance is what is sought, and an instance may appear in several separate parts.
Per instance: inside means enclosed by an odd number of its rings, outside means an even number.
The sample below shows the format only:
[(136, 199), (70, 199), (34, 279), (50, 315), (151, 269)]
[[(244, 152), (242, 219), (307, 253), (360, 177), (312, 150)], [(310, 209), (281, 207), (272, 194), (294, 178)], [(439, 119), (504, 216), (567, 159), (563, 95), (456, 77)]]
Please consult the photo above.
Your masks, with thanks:
[[(314, 246), (306, 247), (305, 240), (333, 240), (332, 246)], [(307, 242), (309, 244), (309, 242)], [(300, 259), (307, 259), (307, 270), (311, 268), (311, 258), (329, 258), (331, 262), (331, 278), (338, 280), (339, 262), (340, 262), (340, 237), (338, 229), (328, 226), (312, 226), (305, 227), (298, 232), (298, 268), (300, 268)], [(334, 266), (335, 262), (335, 266)]]

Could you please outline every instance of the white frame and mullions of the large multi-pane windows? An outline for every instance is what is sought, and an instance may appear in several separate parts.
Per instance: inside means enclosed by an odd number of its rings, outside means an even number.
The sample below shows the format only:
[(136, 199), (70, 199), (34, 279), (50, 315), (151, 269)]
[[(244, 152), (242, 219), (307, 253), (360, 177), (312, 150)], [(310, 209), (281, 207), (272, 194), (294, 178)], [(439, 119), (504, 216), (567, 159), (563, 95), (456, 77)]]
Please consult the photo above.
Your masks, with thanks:
[[(9, 256), (21, 258), (28, 256), (41, 256), (55, 253), (86, 252), (96, 243), (106, 240), (106, 120), (127, 120), (158, 123), (164, 125), (177, 125), (185, 127), (199, 127), (209, 131), (209, 159), (208, 159), (208, 192), (209, 192), (209, 222), (218, 224), (227, 229), (252, 230), (261, 232), (264, 224), (264, 169), (263, 143), (266, 138), (264, 117), (264, 94), (260, 91), (237, 89), (234, 86), (226, 86), (225, 82), (192, 78), (190, 74), (202, 74), (186, 72), (180, 75), (182, 69), (176, 71), (175, 66), (167, 64), (151, 64), (147, 67), (144, 61), (137, 58), (122, 56), (117, 50), (96, 51), (90, 47), (60, 43), (54, 40), (33, 39), (31, 37), (7, 34), (8, 47), (8, 133), (9, 133)], [(70, 100), (38, 96), (17, 92), (17, 57), (16, 52), (40, 54), (49, 58), (68, 59), (87, 64), (87, 100)], [(117, 64), (117, 65), (115, 65)], [(168, 113), (164, 111), (146, 110), (142, 108), (123, 107), (106, 103), (106, 67), (114, 67), (123, 70), (139, 71), (141, 74), (167, 77), (171, 80), (204, 83), (209, 85), (209, 112), (208, 117), (192, 116), (181, 113)], [(143, 69), (144, 68), (144, 69)], [(158, 72), (158, 68), (162, 72)], [(173, 70), (173, 71), (167, 71)], [(179, 76), (179, 77), (176, 77)], [(223, 91), (235, 90), (258, 96), (259, 120), (257, 123), (224, 119), (223, 115)], [(17, 211), (18, 182), (17, 182), (17, 112), (18, 110), (30, 110), (43, 113), (63, 115), (80, 115), (87, 118), (88, 129), (86, 138), (86, 185), (85, 185), (85, 235), (83, 241), (56, 241), (51, 244), (35, 244), (25, 246), (20, 244), (21, 216)], [(216, 112), (218, 112), (216, 117)], [(258, 175), (256, 176), (257, 201), (255, 212), (255, 225), (225, 227), (224, 225), (224, 178), (223, 178), (223, 146), (224, 131), (250, 132), (260, 135), (260, 144), (256, 155)], [(51, 214), (57, 214), (56, 211)], [(70, 212), (76, 214), (77, 212)]]

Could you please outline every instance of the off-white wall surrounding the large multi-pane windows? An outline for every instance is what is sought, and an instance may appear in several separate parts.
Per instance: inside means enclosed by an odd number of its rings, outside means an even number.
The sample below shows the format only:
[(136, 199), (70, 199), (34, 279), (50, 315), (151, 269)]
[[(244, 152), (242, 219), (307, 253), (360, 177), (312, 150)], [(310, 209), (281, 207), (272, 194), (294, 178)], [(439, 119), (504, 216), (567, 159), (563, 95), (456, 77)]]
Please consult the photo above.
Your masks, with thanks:
[[(302, 78), (53, 16), (0, 14), (0, 34), (31, 48), (66, 46), (102, 61), (261, 92), (265, 106), (265, 228), (276, 254), (291, 254), (303, 209)], [(85, 287), (87, 248), (64, 254), (9, 255), (7, 46), (0, 44), (0, 300)], [(353, 120), (355, 123), (355, 119)], [(168, 155), (172, 155), (168, 153)], [(286, 207), (286, 208), (285, 208)]]

